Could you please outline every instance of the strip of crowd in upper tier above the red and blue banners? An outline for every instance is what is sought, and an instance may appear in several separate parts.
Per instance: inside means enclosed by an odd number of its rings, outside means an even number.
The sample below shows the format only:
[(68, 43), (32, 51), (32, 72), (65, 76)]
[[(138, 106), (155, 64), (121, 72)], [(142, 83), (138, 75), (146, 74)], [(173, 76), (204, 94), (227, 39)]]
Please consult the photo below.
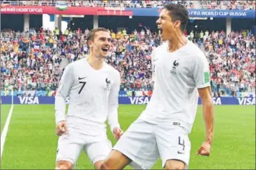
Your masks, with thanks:
[[(69, 0), (69, 1), (59, 1), (67, 3), (67, 6), (91, 6), (91, 7), (131, 7), (131, 8), (161, 8), (165, 3), (181, 3), (186, 6), (186, 8), (205, 8), (205, 9), (222, 9), (222, 10), (255, 10), (255, 1), (185, 1), (185, 0), (165, 0), (165, 1), (108, 1), (108, 0)], [(58, 1), (51, 0), (39, 0), (39, 1), (17, 1), (17, 0), (3, 0), (1, 5), (4, 6), (56, 6)], [(195, 5), (195, 3), (197, 5)]]

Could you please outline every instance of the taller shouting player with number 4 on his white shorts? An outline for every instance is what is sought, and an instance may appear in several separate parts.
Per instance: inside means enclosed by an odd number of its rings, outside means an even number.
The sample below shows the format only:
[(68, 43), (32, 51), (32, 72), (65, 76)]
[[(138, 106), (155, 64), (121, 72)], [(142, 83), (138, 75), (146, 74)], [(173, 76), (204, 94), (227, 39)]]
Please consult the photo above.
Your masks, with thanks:
[(124, 169), (130, 163), (136, 169), (151, 169), (159, 157), (164, 169), (188, 169), (198, 94), (206, 127), (198, 155), (209, 156), (214, 134), (209, 64), (184, 36), (188, 21), (189, 12), (182, 5), (170, 3), (161, 10), (157, 25), (163, 44), (152, 52), (152, 97), (101, 169)]

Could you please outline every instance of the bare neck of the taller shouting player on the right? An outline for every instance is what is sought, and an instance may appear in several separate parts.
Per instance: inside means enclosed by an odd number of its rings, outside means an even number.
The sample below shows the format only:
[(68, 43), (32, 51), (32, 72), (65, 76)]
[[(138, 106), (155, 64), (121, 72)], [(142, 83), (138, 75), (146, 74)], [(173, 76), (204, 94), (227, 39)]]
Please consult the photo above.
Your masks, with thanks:
[(168, 50), (172, 53), (174, 51), (177, 51), (182, 46), (186, 45), (188, 40), (186, 40), (186, 37), (183, 33), (176, 34), (176, 37), (172, 40), (168, 41)]

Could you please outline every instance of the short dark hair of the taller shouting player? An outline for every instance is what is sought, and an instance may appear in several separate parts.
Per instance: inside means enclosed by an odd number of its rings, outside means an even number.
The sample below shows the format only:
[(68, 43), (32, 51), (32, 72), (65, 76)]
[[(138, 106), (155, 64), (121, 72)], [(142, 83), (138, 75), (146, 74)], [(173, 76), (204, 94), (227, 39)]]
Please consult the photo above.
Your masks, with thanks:
[(166, 9), (170, 12), (170, 18), (173, 22), (179, 20), (181, 22), (180, 29), (182, 32), (186, 29), (186, 24), (189, 22), (189, 12), (186, 8), (182, 5), (168, 3), (163, 6), (163, 9)]

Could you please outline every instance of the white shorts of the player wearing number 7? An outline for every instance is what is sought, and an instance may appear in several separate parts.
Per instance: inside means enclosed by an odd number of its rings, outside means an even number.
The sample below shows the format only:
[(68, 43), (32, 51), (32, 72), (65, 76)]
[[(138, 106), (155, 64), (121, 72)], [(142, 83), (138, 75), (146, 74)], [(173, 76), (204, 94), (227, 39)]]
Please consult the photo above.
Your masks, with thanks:
[(83, 150), (90, 162), (95, 164), (99, 160), (105, 160), (111, 149), (112, 144), (107, 137), (77, 135), (73, 130), (69, 130), (68, 134), (58, 138), (56, 162), (66, 160), (74, 166)]

